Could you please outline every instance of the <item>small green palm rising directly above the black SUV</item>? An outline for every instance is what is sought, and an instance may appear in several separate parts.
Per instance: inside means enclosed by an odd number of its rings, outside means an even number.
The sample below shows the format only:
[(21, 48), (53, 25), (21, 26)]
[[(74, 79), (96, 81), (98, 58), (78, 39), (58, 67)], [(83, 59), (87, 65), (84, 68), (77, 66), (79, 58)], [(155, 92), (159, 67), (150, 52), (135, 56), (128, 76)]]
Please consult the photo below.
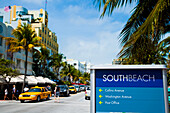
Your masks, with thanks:
[(58, 76), (60, 75), (59, 73), (60, 68), (65, 65), (65, 62), (63, 62), (63, 59), (65, 59), (63, 54), (54, 54), (50, 57), (51, 61), (49, 63), (49, 66), (54, 68), (54, 71), (57, 73), (57, 79), (58, 79)]

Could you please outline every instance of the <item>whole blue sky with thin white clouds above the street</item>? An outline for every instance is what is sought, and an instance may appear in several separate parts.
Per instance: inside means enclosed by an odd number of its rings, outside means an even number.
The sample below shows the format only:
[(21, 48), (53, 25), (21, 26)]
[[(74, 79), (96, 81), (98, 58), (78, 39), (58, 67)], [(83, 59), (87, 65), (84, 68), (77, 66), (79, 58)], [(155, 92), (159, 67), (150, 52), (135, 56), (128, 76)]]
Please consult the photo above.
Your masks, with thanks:
[[(121, 47), (118, 35), (135, 4), (99, 19), (93, 0), (47, 0), (49, 28), (56, 33), (59, 52), (68, 59), (111, 64)], [(0, 7), (19, 5), (28, 10), (45, 8), (45, 0), (1, 0)]]

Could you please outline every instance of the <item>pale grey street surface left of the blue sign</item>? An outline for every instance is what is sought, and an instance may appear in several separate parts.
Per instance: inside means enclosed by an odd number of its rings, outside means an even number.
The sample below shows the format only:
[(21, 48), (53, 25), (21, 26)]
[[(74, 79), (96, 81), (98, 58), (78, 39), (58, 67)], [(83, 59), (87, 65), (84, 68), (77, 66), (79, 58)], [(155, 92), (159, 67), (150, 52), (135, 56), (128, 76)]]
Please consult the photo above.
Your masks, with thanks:
[(85, 100), (84, 92), (60, 97), (60, 102), (51, 100), (41, 102), (0, 101), (1, 113), (89, 113), (90, 100)]

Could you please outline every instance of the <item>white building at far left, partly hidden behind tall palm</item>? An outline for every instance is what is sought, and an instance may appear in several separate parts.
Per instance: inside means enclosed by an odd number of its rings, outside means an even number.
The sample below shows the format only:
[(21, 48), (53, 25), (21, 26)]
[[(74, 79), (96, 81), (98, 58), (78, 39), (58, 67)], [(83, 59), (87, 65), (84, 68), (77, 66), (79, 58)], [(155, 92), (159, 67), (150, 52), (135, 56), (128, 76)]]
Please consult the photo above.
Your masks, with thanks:
[[(15, 62), (16, 68), (19, 69), (21, 74), (25, 73), (25, 52), (24, 50), (15, 52), (11, 54), (7, 52), (8, 46), (6, 45), (6, 40), (3, 37), (14, 37), (11, 35), (13, 27), (10, 24), (4, 24), (0, 22), (0, 58), (13, 60)], [(27, 74), (32, 75), (32, 53), (28, 53), (28, 64), (27, 64)]]

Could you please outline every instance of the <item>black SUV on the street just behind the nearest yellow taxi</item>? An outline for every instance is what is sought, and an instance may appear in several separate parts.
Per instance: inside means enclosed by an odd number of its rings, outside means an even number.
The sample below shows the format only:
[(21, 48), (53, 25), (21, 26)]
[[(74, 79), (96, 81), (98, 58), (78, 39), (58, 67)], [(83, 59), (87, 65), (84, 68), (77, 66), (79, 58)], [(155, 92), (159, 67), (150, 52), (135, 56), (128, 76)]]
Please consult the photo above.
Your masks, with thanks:
[(60, 95), (69, 96), (69, 88), (67, 85), (58, 85), (57, 89), (60, 90)]

